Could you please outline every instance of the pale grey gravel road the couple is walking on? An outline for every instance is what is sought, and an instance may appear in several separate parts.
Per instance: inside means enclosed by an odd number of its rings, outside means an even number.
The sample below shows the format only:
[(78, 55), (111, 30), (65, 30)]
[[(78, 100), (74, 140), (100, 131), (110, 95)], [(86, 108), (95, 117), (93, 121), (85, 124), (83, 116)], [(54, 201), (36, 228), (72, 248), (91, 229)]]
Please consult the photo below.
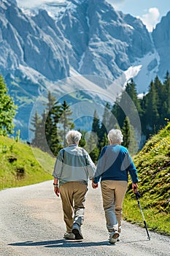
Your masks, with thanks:
[(0, 256), (168, 256), (170, 238), (123, 222), (121, 241), (108, 243), (101, 191), (91, 189), (86, 200), (83, 241), (63, 239), (61, 198), (53, 181), (0, 192)]

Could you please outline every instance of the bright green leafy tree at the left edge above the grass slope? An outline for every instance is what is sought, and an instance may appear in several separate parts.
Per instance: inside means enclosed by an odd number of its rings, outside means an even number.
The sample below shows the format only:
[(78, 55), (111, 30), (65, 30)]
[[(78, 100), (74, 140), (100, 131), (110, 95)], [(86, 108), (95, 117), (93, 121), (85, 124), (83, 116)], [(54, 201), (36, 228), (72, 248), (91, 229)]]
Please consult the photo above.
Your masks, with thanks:
[(15, 117), (17, 109), (12, 97), (10, 97), (7, 92), (7, 86), (0, 75), (0, 135), (4, 136), (7, 136), (8, 133), (13, 133), (13, 118)]

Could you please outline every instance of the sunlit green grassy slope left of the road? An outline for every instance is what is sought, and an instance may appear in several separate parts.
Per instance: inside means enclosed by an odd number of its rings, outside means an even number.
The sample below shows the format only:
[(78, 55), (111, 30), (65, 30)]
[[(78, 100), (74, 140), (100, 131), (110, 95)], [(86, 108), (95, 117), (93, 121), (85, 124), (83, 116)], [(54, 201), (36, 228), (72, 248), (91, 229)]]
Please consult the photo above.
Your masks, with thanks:
[(36, 161), (31, 147), (0, 136), (0, 189), (21, 187), (52, 179), (54, 159), (39, 149), (36, 155), (45, 160), (43, 169)]

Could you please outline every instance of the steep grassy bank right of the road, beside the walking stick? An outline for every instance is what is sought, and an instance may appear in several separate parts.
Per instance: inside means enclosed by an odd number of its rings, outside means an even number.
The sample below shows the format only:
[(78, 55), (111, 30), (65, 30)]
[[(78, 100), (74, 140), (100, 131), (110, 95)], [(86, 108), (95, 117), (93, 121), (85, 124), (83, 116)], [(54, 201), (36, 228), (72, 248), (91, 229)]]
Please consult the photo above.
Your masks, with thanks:
[[(170, 123), (134, 157), (139, 173), (140, 203), (149, 229), (170, 235)], [(123, 206), (124, 219), (143, 224), (131, 187)]]

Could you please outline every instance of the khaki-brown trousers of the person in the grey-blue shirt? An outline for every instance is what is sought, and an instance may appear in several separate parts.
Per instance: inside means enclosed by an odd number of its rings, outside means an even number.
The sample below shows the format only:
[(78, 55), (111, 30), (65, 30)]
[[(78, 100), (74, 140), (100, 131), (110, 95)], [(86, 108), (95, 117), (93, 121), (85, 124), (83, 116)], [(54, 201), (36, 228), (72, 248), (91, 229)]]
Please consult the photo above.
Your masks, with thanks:
[(66, 182), (60, 186), (63, 220), (66, 223), (66, 231), (68, 233), (72, 232), (73, 223), (82, 225), (84, 220), (85, 194), (87, 191), (87, 186), (78, 181)]

